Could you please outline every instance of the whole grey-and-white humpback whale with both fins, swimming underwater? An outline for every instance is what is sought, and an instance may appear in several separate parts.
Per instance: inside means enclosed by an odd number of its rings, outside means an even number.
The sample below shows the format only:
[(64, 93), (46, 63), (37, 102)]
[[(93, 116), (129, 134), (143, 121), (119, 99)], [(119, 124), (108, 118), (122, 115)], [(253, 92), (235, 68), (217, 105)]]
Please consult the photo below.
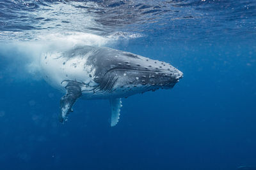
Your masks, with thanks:
[(67, 120), (78, 98), (109, 99), (111, 126), (118, 122), (123, 97), (171, 89), (183, 75), (166, 62), (99, 46), (43, 53), (40, 65), (45, 81), (65, 92), (60, 101), (60, 122)]

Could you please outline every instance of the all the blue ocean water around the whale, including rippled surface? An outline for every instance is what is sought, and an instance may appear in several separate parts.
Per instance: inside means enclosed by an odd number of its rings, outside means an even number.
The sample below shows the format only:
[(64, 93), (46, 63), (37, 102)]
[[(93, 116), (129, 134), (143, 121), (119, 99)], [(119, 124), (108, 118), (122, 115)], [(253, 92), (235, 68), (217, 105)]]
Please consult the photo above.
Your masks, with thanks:
[[(0, 1), (1, 169), (253, 169), (253, 0)], [(78, 100), (58, 122), (61, 92), (40, 76), (56, 46), (97, 45), (170, 62), (171, 90)]]

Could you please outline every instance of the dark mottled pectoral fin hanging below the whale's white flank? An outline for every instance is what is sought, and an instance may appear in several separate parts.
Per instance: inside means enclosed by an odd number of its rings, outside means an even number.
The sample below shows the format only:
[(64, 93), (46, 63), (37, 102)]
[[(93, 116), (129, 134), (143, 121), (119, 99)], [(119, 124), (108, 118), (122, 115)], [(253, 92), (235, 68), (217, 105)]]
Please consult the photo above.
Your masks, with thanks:
[(76, 100), (82, 95), (81, 87), (79, 87), (78, 83), (74, 81), (68, 82), (67, 93), (61, 97), (60, 99), (60, 115), (59, 120), (62, 123), (64, 120), (67, 120), (67, 115), (69, 112), (72, 112), (72, 106), (76, 102)]

